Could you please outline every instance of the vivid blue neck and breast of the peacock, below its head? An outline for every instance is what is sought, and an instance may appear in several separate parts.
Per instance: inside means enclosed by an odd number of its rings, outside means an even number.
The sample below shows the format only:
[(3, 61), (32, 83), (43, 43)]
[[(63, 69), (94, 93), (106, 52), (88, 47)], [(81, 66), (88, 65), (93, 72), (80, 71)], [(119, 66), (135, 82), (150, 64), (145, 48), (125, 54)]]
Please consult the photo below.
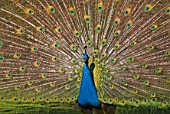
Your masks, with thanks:
[(83, 107), (100, 107), (101, 102), (98, 100), (97, 90), (87, 64), (84, 64), (82, 75), (78, 104)]

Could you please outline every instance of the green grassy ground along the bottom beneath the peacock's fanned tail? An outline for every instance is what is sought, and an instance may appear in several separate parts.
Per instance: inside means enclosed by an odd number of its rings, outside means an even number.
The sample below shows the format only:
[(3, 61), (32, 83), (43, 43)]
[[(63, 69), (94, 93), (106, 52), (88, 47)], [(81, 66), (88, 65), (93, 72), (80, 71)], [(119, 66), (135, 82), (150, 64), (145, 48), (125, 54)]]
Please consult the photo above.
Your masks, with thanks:
[[(0, 114), (82, 114), (76, 104), (39, 103), (22, 104), (0, 102)], [(115, 114), (170, 114), (169, 109), (156, 107), (121, 107), (117, 106)]]

